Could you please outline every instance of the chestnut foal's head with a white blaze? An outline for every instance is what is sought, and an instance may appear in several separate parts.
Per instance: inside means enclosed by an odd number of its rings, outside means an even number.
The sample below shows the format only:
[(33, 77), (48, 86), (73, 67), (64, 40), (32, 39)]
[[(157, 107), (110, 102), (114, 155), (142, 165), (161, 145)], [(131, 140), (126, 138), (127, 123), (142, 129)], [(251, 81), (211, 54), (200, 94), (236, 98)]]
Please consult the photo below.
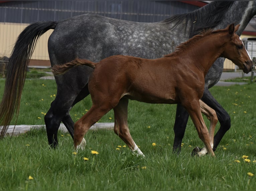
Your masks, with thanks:
[(249, 73), (253, 69), (253, 62), (244, 47), (242, 39), (235, 34), (240, 25), (229, 25), (225, 30), (228, 30), (230, 41), (225, 44), (225, 50), (222, 56), (231, 60), (235, 65), (243, 70), (244, 73)]

